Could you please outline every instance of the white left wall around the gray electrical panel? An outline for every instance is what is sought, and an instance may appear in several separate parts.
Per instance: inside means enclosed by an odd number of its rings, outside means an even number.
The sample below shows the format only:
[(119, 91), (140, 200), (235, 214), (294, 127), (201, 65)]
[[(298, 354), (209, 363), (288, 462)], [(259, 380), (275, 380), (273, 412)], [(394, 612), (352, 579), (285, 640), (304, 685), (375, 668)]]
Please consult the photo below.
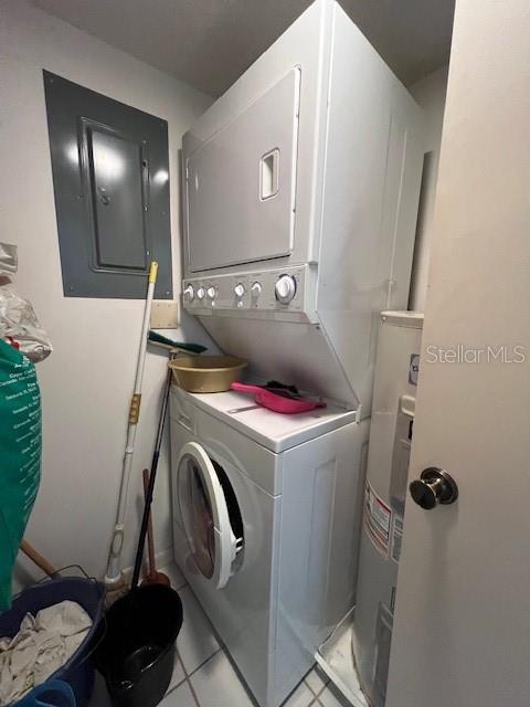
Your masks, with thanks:
[[(169, 123), (171, 230), (180, 291), (178, 149), (211, 98), (26, 4), (0, 4), (0, 240), (19, 246), (17, 291), (53, 340), (39, 363), (43, 401), (42, 486), (26, 538), (56, 566), (102, 574), (120, 479), (142, 302), (63, 297), (42, 68)], [(184, 338), (183, 333), (177, 336)], [(188, 340), (204, 333), (187, 323)], [(139, 472), (149, 466), (166, 358), (149, 355), (128, 507), (125, 566), (132, 562)], [(157, 549), (171, 545), (168, 449), (155, 503)], [(25, 566), (25, 564), (24, 564)]]

